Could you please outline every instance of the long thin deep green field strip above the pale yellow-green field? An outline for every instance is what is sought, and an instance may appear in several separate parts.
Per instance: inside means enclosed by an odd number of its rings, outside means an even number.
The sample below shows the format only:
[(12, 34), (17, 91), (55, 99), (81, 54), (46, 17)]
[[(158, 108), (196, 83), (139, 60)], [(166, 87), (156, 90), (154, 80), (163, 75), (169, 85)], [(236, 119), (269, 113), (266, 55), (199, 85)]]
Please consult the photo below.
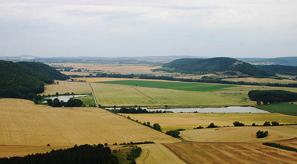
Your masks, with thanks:
[(110, 82), (99, 82), (99, 83), (110, 83), (110, 84), (122, 84), (132, 86), (144, 86), (153, 88), (166, 88), (166, 89), (177, 89), (177, 90), (190, 90), (200, 92), (210, 92), (225, 90), (224, 88), (235, 87), (238, 85), (228, 84), (212, 84), (212, 83), (192, 83), (192, 82), (152, 82), (152, 81), (110, 81)]

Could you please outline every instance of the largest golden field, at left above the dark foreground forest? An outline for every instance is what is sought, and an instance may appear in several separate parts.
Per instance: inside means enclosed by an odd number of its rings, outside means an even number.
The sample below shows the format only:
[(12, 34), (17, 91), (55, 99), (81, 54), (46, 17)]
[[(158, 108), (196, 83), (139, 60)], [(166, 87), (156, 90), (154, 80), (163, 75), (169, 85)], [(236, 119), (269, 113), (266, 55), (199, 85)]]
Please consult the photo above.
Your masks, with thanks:
[(22, 99), (0, 99), (0, 127), (0, 145), (73, 146), (180, 141), (103, 109), (53, 108)]

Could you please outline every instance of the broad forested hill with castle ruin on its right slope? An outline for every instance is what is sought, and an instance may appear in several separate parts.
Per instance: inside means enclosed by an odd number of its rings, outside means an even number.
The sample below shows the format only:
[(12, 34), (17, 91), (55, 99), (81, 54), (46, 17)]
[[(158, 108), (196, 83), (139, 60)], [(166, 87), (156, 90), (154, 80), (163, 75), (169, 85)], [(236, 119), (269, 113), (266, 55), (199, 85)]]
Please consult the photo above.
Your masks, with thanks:
[(274, 76), (274, 74), (255, 67), (254, 65), (228, 57), (216, 57), (208, 59), (177, 59), (163, 64), (163, 68), (155, 71), (180, 72), (184, 74), (206, 74), (224, 71), (238, 71), (253, 77)]

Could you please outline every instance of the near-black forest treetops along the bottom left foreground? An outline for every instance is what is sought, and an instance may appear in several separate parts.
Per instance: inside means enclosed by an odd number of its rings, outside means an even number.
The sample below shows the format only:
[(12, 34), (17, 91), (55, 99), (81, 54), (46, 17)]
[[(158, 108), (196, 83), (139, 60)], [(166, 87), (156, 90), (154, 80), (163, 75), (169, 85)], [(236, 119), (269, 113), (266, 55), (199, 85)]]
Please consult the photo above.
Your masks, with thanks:
[(25, 157), (0, 158), (0, 164), (119, 164), (109, 147), (81, 145)]

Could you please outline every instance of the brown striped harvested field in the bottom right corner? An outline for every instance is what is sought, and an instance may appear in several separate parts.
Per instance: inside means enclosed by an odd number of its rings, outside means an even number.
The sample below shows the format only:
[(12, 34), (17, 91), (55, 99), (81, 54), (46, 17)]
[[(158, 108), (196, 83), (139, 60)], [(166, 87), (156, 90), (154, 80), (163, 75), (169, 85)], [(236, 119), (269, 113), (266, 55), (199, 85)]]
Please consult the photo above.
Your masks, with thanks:
[(262, 143), (183, 142), (164, 144), (190, 164), (294, 164), (296, 152)]

